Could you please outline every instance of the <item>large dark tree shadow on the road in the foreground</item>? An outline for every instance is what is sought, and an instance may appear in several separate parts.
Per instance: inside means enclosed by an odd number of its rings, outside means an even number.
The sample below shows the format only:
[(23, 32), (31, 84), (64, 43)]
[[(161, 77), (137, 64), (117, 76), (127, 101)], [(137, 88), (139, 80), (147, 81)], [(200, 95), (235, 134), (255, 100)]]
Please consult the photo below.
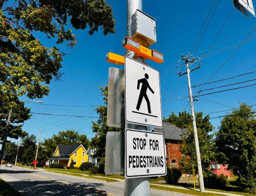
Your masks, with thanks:
[(57, 181), (15, 181), (9, 182), (13, 187), (18, 187), (18, 190), (24, 195), (92, 195), (101, 196), (107, 195), (101, 190), (102, 183), (72, 183), (62, 184)]

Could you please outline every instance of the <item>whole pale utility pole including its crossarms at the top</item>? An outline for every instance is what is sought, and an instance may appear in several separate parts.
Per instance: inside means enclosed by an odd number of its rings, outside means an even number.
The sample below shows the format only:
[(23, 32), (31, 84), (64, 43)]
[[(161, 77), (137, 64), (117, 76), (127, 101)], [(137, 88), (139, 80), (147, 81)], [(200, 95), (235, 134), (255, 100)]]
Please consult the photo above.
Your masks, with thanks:
[(181, 59), (185, 60), (186, 64), (186, 72), (180, 73), (179, 76), (187, 74), (187, 82), (188, 82), (188, 93), (189, 93), (189, 100), (190, 100), (190, 107), (191, 107), (191, 114), (192, 114), (192, 122), (193, 122), (193, 130), (194, 130), (194, 138), (195, 138), (195, 146), (196, 146), (196, 155), (197, 155), (197, 165), (198, 165), (198, 176), (199, 176), (199, 184), (200, 184), (200, 191), (204, 192), (204, 180), (203, 180), (203, 171), (202, 171), (202, 164), (201, 164), (201, 156), (200, 156), (200, 149), (199, 149), (199, 142), (198, 142), (198, 134), (197, 134), (197, 123), (196, 123), (196, 116), (193, 104), (193, 95), (191, 90), (191, 83), (190, 83), (190, 72), (193, 72), (201, 67), (201, 63), (199, 66), (193, 70), (189, 70), (189, 66), (194, 64), (197, 61), (200, 61), (200, 58), (194, 58), (191, 54), (184, 57), (183, 54), (181, 55)]

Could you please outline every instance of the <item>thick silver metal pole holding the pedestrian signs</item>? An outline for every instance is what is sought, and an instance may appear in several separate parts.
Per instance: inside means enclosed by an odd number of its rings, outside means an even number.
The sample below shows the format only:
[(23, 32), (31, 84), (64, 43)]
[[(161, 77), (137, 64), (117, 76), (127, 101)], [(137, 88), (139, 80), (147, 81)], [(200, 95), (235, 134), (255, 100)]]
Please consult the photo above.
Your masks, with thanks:
[[(127, 36), (131, 37), (132, 15), (139, 9), (142, 11), (142, 0), (127, 0)], [(144, 62), (142, 57), (134, 56), (135, 53), (127, 50), (126, 55), (140, 62)], [(147, 130), (146, 126), (125, 123), (125, 128), (137, 130)], [(150, 178), (124, 178), (124, 195), (125, 196), (148, 196), (150, 195)]]

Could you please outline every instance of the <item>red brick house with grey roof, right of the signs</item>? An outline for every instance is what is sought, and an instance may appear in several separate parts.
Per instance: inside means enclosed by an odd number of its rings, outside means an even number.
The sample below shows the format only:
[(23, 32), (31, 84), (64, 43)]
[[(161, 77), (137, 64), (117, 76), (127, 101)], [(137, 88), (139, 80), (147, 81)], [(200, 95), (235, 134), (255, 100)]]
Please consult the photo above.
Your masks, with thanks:
[(154, 128), (156, 132), (164, 135), (166, 146), (167, 166), (180, 167), (179, 159), (182, 158), (180, 143), (182, 136), (188, 132), (187, 128), (179, 128), (171, 123), (163, 123), (163, 128)]

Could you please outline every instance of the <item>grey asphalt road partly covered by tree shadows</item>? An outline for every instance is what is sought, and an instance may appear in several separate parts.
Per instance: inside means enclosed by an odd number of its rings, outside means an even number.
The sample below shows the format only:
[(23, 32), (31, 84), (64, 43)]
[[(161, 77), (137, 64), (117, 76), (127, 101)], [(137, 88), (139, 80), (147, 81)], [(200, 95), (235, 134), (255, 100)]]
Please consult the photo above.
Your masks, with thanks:
[[(0, 167), (0, 178), (24, 195), (121, 196), (124, 192), (124, 182), (104, 182), (101, 180), (62, 175), (42, 169), (32, 170), (2, 166)], [(181, 196), (188, 194), (151, 189), (151, 195)]]

